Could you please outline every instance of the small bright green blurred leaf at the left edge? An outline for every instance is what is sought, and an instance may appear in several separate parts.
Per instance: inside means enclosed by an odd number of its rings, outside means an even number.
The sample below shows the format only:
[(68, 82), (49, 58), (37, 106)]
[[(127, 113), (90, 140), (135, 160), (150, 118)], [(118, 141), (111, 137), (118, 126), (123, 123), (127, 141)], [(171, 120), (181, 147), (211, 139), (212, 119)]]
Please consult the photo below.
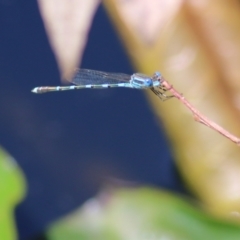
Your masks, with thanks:
[(14, 208), (24, 198), (26, 182), (15, 160), (0, 148), (0, 239), (17, 239)]

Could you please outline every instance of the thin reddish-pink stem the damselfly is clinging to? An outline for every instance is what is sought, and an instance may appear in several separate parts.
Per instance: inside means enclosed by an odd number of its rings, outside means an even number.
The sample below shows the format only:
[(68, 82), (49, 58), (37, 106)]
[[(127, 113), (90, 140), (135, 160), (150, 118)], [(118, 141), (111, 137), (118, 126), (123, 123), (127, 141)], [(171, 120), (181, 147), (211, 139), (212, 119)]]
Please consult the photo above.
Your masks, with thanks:
[(170, 85), (165, 79), (161, 79), (162, 86), (168, 89), (169, 92), (172, 93), (174, 97), (176, 97), (180, 102), (182, 102), (193, 114), (194, 120), (202, 123), (203, 125), (212, 128), (213, 130), (219, 132), (224, 137), (230, 139), (232, 142), (236, 143), (238, 146), (240, 146), (240, 138), (234, 136), (215, 122), (211, 121), (207, 117), (205, 117), (202, 113), (200, 113), (192, 104), (190, 104), (182, 94), (180, 94), (176, 89), (173, 88), (172, 85)]

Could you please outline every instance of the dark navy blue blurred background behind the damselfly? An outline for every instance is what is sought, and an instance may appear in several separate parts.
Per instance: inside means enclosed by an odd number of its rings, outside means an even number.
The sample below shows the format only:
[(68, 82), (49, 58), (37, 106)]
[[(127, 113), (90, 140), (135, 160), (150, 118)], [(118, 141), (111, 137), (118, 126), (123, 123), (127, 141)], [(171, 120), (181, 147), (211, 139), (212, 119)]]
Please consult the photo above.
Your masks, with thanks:
[[(60, 84), (37, 2), (0, 0), (0, 32), (0, 144), (28, 181), (26, 199), (16, 210), (20, 239), (43, 232), (116, 179), (182, 191), (143, 91), (34, 95), (33, 87)], [(81, 67), (134, 72), (102, 6)]]

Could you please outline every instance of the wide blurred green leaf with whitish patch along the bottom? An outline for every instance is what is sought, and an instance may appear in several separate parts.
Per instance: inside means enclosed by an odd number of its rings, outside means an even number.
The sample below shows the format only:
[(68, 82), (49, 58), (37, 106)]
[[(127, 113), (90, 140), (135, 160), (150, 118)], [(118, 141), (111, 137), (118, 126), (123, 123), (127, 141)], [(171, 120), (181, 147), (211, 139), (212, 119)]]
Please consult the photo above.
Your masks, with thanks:
[(240, 228), (215, 220), (186, 200), (150, 188), (102, 192), (54, 223), (50, 240), (238, 240)]

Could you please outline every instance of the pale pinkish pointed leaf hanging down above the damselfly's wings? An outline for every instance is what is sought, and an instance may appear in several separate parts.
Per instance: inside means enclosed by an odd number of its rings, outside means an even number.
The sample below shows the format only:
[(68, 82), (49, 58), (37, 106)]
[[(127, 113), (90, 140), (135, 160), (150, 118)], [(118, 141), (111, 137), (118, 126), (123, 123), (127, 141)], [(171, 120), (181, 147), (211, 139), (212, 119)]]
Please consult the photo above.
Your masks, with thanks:
[(100, 0), (38, 0), (49, 41), (63, 79), (79, 66)]

